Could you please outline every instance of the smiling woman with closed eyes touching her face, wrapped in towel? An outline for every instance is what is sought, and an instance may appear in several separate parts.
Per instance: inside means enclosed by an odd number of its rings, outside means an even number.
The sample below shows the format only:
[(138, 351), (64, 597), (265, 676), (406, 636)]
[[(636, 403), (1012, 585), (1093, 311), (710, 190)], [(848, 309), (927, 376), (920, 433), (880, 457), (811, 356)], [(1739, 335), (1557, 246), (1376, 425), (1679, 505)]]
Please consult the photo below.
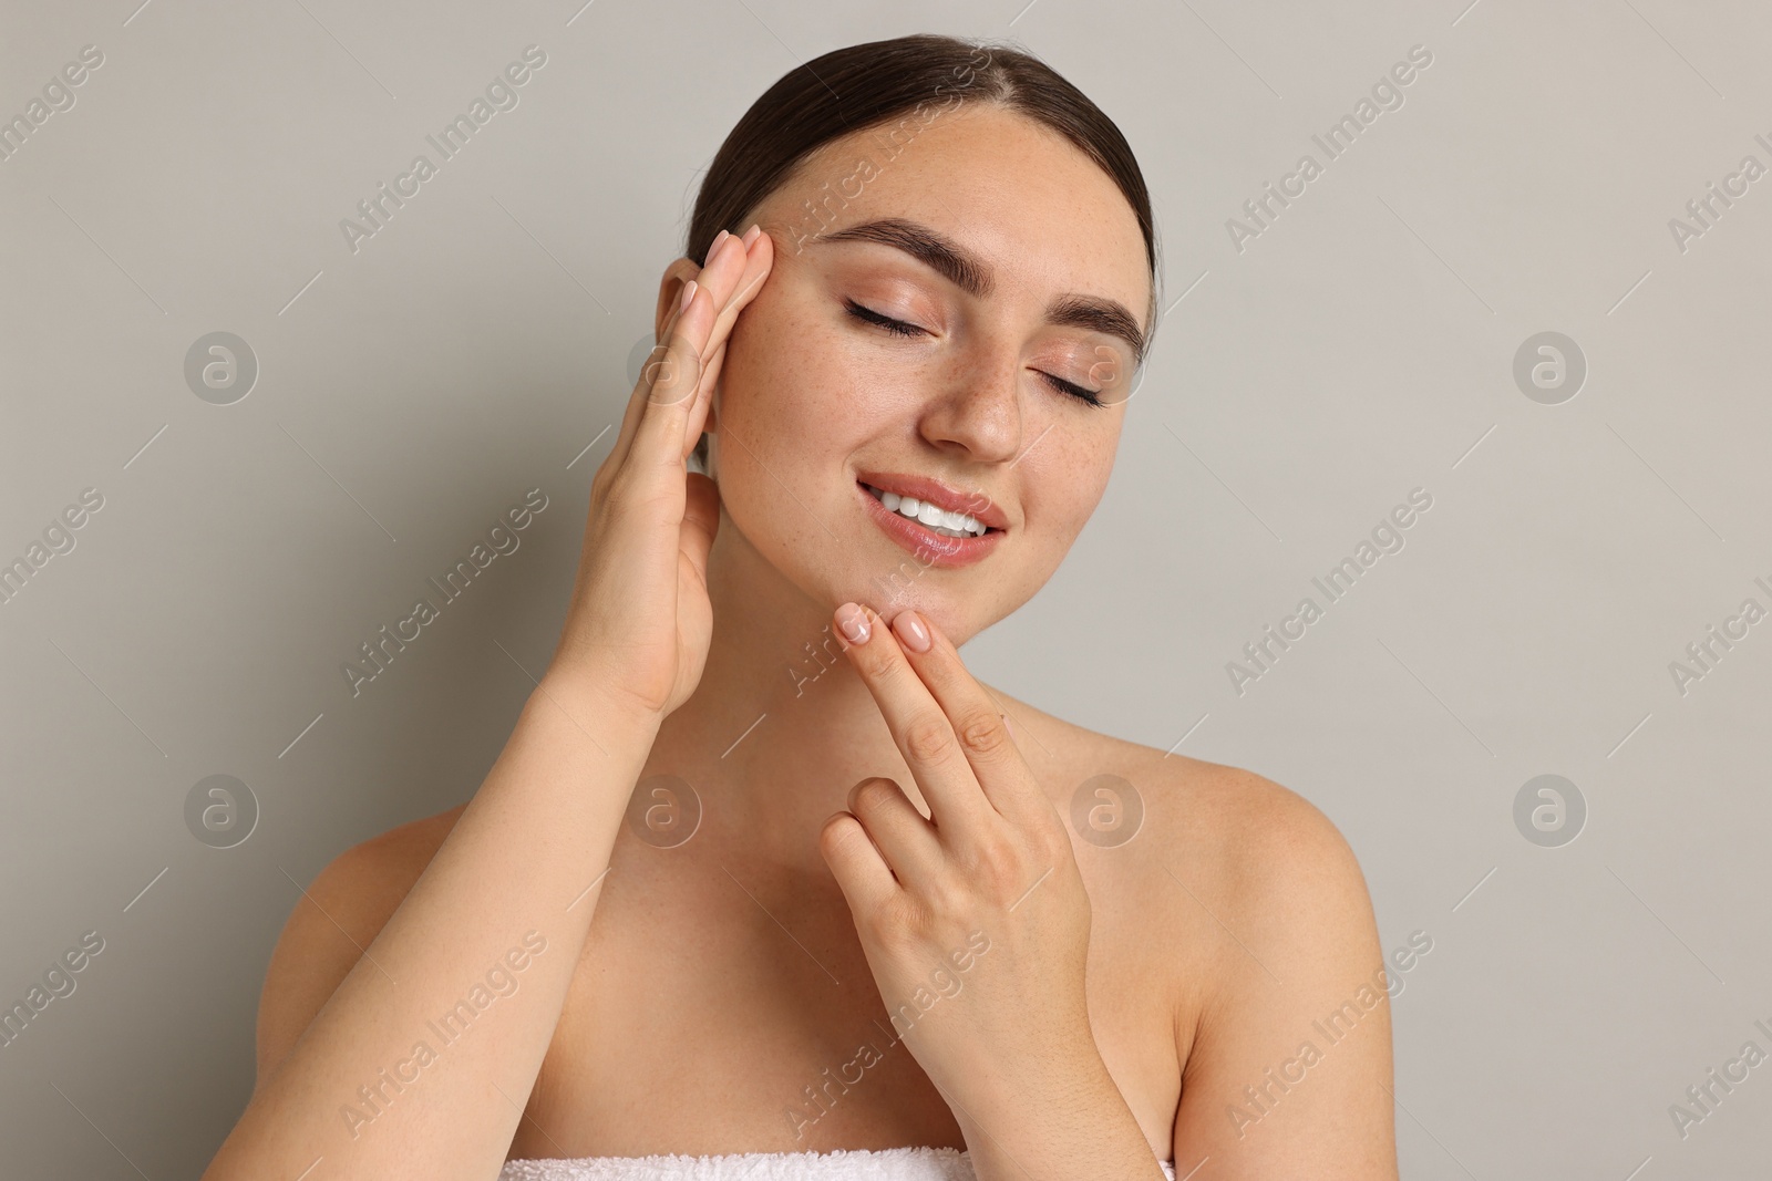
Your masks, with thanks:
[(688, 246), (546, 675), (470, 804), (305, 891), (206, 1177), (1395, 1177), (1334, 827), (955, 652), (1113, 466), (1118, 129), (1003, 48), (838, 50)]

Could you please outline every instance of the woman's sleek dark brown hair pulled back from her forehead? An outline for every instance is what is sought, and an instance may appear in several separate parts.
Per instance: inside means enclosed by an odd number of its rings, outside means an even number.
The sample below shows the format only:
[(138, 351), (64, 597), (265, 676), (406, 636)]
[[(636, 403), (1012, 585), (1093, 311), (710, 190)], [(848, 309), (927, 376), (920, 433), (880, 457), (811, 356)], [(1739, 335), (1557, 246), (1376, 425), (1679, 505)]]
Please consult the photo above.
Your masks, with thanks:
[[(1150, 193), (1120, 127), (1037, 57), (1001, 44), (937, 34), (831, 50), (781, 74), (751, 103), (707, 166), (695, 198), (684, 257), (705, 259), (719, 230), (742, 234), (750, 228), (751, 212), (826, 143), (897, 120), (891, 133), (879, 136), (890, 158), (900, 151), (902, 140), (964, 101), (996, 103), (1058, 131), (1113, 177), (1145, 235), (1145, 260), (1152, 278), (1145, 319), (1154, 322), (1157, 241)], [(838, 188), (828, 195), (822, 209), (806, 202), (808, 223), (817, 225), (813, 220), (831, 209), (833, 202), (840, 207), (856, 195)], [(812, 234), (817, 228), (808, 235)], [(705, 434), (695, 448), (695, 460), (707, 471)]]

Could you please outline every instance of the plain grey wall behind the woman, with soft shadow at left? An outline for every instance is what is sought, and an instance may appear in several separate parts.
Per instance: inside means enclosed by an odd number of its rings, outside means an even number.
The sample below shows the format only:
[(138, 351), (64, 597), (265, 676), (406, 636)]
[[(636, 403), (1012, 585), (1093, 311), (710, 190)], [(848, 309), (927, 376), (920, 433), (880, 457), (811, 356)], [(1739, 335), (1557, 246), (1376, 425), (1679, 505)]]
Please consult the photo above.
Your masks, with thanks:
[[(1765, 5), (138, 4), (12, 2), (0, 37), (7, 119), (105, 53), (0, 161), (0, 560), (105, 496), (0, 606), (0, 997), (106, 940), (0, 1048), (7, 1176), (202, 1169), (296, 884), (468, 799), (544, 666), (721, 138), (797, 62), (918, 30), (1090, 94), (1162, 244), (1108, 496), (973, 668), (1340, 825), (1384, 946), (1434, 937), (1395, 1002), (1403, 1176), (1772, 1169), (1772, 1066), (1683, 1140), (1667, 1114), (1772, 1050), (1772, 621), (1669, 675), (1772, 606), (1772, 177), (1683, 253), (1667, 228), (1772, 165)], [(532, 42), (519, 104), (353, 253), (338, 221)], [(1405, 104), (1239, 253), (1226, 220), (1412, 44)], [(259, 361), (232, 405), (184, 382), (213, 331)], [(1586, 354), (1559, 405), (1513, 384), (1540, 331)], [(535, 485), (521, 549), (353, 699), (340, 660)], [(1226, 662), (1414, 487), (1405, 549), (1237, 694)], [(229, 850), (184, 823), (214, 774), (260, 807)], [(1559, 848), (1513, 823), (1540, 774), (1586, 800)]]

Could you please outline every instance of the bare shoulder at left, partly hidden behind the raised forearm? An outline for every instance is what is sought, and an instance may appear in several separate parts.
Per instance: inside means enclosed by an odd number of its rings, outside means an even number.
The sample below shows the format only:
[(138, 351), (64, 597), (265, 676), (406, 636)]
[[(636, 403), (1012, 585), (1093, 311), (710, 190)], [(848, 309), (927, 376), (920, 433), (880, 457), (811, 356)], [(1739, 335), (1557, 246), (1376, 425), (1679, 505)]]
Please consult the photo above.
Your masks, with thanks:
[(259, 1085), (400, 908), (466, 804), (338, 853), (296, 899), (259, 995)]

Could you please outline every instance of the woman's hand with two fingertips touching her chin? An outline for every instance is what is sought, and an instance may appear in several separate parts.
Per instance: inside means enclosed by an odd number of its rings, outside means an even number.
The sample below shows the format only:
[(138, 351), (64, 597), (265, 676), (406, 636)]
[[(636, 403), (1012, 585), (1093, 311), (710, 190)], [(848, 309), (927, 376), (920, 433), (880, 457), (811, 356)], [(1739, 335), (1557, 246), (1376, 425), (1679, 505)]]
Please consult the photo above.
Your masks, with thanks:
[(820, 834), (893, 1036), (980, 1119), (1061, 1089), (1092, 1057), (1099, 1069), (1090, 899), (1070, 834), (991, 694), (914, 609), (890, 630), (843, 604), (836, 625), (930, 809), (925, 820), (891, 779), (863, 779)]

